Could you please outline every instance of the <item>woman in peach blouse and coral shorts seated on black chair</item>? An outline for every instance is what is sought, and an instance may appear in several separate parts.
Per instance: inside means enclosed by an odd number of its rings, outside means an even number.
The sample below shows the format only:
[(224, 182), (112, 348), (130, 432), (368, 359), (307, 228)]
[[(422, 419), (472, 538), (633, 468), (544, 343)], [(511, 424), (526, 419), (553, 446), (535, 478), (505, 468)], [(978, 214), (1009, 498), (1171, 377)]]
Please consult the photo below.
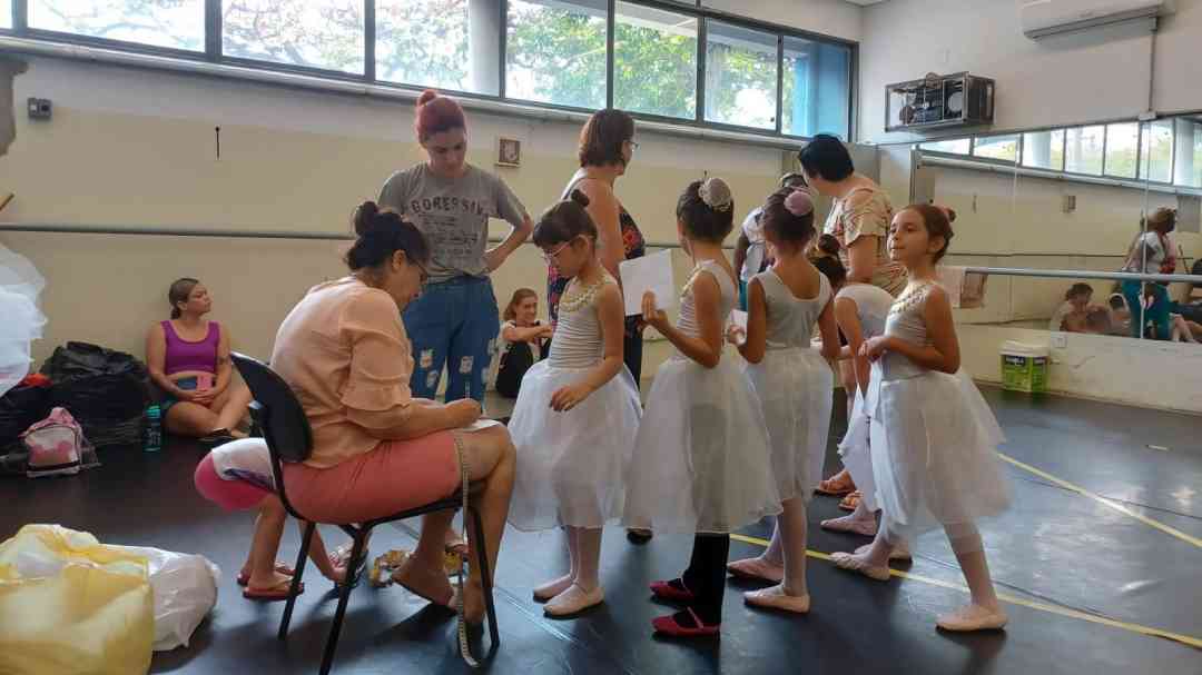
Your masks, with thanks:
[[(314, 287), (275, 336), (272, 368), (292, 387), (313, 426), (313, 453), (284, 468), (288, 500), (317, 522), (363, 522), (447, 498), (464, 480), (483, 520), (489, 569), (513, 489), (514, 450), (504, 426), (469, 430), (480, 419), (472, 399), (416, 399), (413, 359), (400, 311), (421, 293), (430, 249), (393, 211), (364, 202), (357, 239), (346, 253), (351, 275)], [(417, 550), (393, 579), (451, 607), (442, 567), (453, 512), (428, 514)], [(471, 542), (475, 548), (477, 542)], [(484, 613), (478, 566), (464, 592), (464, 614)]]

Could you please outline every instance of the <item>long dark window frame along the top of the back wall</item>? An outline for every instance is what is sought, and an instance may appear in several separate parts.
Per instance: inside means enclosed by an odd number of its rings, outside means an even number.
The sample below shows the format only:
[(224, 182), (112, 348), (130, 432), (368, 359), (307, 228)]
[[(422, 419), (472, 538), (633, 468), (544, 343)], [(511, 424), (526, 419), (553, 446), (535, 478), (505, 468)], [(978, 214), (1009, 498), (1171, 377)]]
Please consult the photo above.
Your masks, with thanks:
[[(418, 92), (423, 89), (419, 84), (410, 83), (397, 83), (397, 82), (385, 82), (377, 79), (376, 73), (376, 22), (375, 22), (375, 0), (362, 0), (363, 2), (363, 18), (364, 18), (364, 54), (363, 54), (363, 72), (352, 73), (344, 72), (332, 68), (322, 68), (314, 66), (299, 66), (294, 64), (281, 64), (267, 60), (250, 59), (243, 56), (232, 56), (224, 53), (222, 42), (222, 26), (221, 26), (221, 1), (222, 0), (203, 0), (204, 2), (204, 35), (202, 40), (203, 49), (189, 50), (189, 49), (177, 49), (172, 47), (161, 47), (154, 44), (143, 44), (138, 42), (127, 42), (121, 40), (112, 40), (106, 37), (94, 37), (87, 35), (78, 35), (71, 32), (59, 32), (43, 29), (34, 29), (28, 25), (28, 4), (29, 0), (12, 0), (12, 28), (0, 28), (0, 36), (12, 36), (25, 40), (34, 40), (41, 42), (60, 43), (60, 44), (78, 44), (83, 47), (96, 47), (103, 49), (112, 49), (117, 52), (127, 52), (135, 54), (145, 54), (150, 56), (162, 56), (168, 59), (179, 59), (194, 62), (209, 62), (225, 66), (234, 66), (239, 68), (249, 68), (255, 71), (269, 71), (269, 72), (282, 72), (293, 73), (300, 76), (316, 77), (320, 79), (328, 79), (332, 82), (353, 82), (361, 83), (371, 88), (393, 89), (400, 91), (413, 91)], [(774, 24), (769, 22), (763, 22), (760, 19), (754, 19), (749, 17), (740, 17), (736, 14), (730, 14), (722, 11), (712, 10), (701, 5), (701, 2), (674, 2), (671, 0), (623, 0), (632, 5), (641, 5), (649, 8), (660, 10), (664, 12), (672, 12), (680, 16), (691, 17), (697, 22), (697, 54), (695, 56), (697, 67), (697, 92), (696, 92), (696, 109), (692, 119), (685, 118), (673, 118), (657, 114), (648, 113), (631, 113), (631, 115), (639, 120), (647, 120), (651, 123), (670, 125), (680, 127), (683, 130), (718, 130), (718, 131), (730, 131), (737, 133), (745, 133), (750, 136), (760, 136), (768, 139), (781, 139), (781, 141), (803, 141), (808, 137), (796, 136), (785, 132), (783, 129), (783, 97), (784, 97), (784, 44), (786, 37), (793, 37), (799, 40), (808, 40), (813, 42), (821, 42), (827, 44), (835, 44), (845, 47), (849, 49), (849, 64), (847, 64), (847, 119), (845, 124), (844, 141), (851, 142), (856, 137), (856, 119), (857, 119), (857, 104), (858, 100), (856, 96), (856, 84), (858, 79), (859, 70), (859, 43), (851, 40), (845, 40), (840, 37), (822, 35), (813, 31), (807, 31), (802, 29), (796, 29), (791, 26), (785, 26), (780, 24)], [(477, 94), (471, 91), (459, 91), (454, 89), (445, 89), (447, 94), (462, 97), (464, 100), (478, 100), (488, 101), (494, 103), (506, 103), (513, 104), (522, 108), (530, 108), (532, 110), (537, 109), (549, 109), (549, 110), (564, 110), (571, 113), (593, 113), (593, 108), (579, 108), (573, 106), (564, 106), (559, 103), (547, 103), (538, 101), (526, 101), (524, 98), (516, 98), (508, 96), (506, 91), (506, 55), (507, 55), (507, 32), (508, 32), (508, 0), (496, 0), (496, 11), (499, 14), (499, 30), (498, 36), (498, 76), (499, 86), (498, 94)], [(606, 0), (606, 96), (605, 103), (607, 107), (613, 106), (614, 101), (614, 61), (615, 50), (613, 48), (613, 40), (615, 35), (615, 19), (617, 19), (617, 0)], [(737, 124), (725, 124), (706, 121), (706, 47), (708, 42), (708, 24), (709, 22), (720, 22), (724, 24), (731, 24), (737, 28), (755, 30), (761, 32), (767, 32), (775, 36), (776, 41), (776, 100), (775, 100), (775, 125), (774, 129), (766, 127), (754, 127), (743, 126)], [(231, 77), (231, 76), (219, 76), (219, 77)], [(236, 77), (236, 76), (233, 76)]]

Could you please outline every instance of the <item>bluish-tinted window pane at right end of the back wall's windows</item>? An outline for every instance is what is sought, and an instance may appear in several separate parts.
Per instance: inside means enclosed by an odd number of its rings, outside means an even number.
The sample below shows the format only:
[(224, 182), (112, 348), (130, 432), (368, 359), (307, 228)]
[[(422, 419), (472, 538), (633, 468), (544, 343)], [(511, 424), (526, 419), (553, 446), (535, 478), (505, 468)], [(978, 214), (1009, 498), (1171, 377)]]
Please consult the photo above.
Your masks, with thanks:
[(785, 37), (781, 131), (792, 136), (833, 133), (847, 139), (851, 48)]

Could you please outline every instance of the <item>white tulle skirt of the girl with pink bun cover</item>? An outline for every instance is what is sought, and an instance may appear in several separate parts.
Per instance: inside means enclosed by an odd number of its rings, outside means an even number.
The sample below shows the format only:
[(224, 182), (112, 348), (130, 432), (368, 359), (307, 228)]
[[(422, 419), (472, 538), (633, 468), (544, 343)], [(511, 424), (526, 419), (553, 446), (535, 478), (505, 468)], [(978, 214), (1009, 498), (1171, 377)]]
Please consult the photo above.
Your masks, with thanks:
[(770, 350), (744, 372), (763, 406), (780, 498), (809, 501), (831, 434), (831, 366), (814, 350)]

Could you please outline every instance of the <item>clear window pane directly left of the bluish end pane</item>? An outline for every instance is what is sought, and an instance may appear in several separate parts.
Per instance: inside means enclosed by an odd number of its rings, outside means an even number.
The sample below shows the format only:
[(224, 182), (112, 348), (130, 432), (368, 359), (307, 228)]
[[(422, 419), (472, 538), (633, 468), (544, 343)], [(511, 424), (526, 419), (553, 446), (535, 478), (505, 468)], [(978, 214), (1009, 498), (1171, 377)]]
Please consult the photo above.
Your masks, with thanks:
[(776, 129), (776, 36), (706, 24), (706, 120)]

